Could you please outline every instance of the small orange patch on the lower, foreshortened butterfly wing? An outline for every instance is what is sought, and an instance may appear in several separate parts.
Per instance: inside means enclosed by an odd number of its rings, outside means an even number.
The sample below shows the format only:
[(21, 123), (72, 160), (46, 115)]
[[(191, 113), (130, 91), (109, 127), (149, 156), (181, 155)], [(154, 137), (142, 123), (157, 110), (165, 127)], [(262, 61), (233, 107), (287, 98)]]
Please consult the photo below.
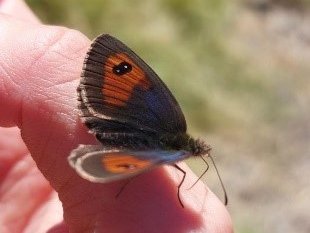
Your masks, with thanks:
[(102, 158), (102, 165), (110, 173), (135, 173), (151, 165), (150, 161), (120, 153), (108, 153)]

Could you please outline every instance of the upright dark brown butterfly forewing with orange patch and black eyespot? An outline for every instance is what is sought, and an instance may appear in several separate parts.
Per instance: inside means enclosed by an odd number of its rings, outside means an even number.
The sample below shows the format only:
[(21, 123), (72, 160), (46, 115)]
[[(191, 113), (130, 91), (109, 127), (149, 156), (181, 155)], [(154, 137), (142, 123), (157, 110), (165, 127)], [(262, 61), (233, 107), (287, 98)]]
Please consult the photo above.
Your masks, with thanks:
[[(82, 117), (91, 130), (186, 131), (183, 113), (166, 85), (132, 50), (109, 35), (97, 37), (78, 88)], [(97, 130), (99, 131), (99, 130)]]

